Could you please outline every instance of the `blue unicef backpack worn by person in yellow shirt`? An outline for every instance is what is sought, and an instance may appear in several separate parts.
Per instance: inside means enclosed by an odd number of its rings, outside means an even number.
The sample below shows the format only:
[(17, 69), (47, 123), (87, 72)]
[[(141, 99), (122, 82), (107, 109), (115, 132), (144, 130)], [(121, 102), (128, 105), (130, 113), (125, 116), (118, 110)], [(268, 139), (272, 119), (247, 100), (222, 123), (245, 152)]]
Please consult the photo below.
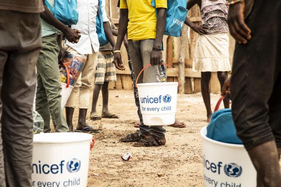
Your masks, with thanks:
[[(151, 5), (155, 7), (155, 0), (151, 1)], [(167, 18), (164, 34), (168, 36), (179, 37), (181, 28), (184, 24), (187, 14), (186, 0), (167, 0)], [(157, 11), (156, 11), (157, 16)]]

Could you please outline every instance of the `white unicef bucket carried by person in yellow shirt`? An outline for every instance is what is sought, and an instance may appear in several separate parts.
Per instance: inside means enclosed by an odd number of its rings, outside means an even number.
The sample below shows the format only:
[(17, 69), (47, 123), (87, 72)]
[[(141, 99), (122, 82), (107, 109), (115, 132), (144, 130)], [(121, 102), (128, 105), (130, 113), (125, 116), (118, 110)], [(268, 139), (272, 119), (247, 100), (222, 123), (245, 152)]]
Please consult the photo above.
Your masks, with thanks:
[(178, 83), (137, 84), (143, 123), (149, 126), (175, 122)]

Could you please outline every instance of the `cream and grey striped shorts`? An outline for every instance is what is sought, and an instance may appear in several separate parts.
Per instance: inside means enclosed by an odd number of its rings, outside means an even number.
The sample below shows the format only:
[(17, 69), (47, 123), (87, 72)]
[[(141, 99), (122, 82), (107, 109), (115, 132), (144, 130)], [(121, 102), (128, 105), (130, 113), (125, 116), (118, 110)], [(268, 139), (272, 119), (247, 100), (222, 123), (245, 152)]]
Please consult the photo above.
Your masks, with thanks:
[(102, 85), (104, 82), (114, 82), (116, 81), (116, 70), (113, 62), (112, 53), (104, 54), (99, 52), (97, 71), (95, 74), (95, 83), (97, 85)]

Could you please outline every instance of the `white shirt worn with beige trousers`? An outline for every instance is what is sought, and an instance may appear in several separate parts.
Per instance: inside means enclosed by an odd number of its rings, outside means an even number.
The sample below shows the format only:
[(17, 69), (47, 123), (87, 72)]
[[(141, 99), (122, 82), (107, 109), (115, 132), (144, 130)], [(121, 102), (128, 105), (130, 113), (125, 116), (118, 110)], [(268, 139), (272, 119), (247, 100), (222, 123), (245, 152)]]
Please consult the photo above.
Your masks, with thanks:
[[(95, 52), (99, 51), (100, 43), (96, 29), (96, 16), (99, 7), (99, 0), (77, 0), (78, 23), (71, 25), (71, 28), (81, 32), (81, 38), (77, 44), (66, 41), (66, 45), (75, 49), (78, 53), (92, 54), (92, 47)], [(102, 2), (103, 22), (109, 21), (105, 10), (105, 0)]]

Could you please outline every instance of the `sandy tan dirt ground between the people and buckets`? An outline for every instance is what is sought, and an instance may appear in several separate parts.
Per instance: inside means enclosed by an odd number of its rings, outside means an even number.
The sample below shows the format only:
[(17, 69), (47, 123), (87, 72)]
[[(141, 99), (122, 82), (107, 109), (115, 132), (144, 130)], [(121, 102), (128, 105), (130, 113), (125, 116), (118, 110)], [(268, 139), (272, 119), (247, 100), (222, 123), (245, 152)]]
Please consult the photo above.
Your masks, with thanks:
[[(102, 110), (102, 99), (98, 111)], [(219, 99), (212, 94), (212, 107)], [(199, 131), (206, 126), (205, 107), (201, 94), (179, 94), (176, 118), (186, 128), (165, 127), (166, 145), (162, 147), (133, 147), (119, 139), (135, 132), (138, 120), (133, 91), (110, 91), (110, 111), (119, 119), (87, 122), (101, 132), (90, 154), (88, 187), (203, 187), (201, 137)], [(77, 124), (78, 112), (74, 114)], [(121, 159), (124, 153), (133, 155), (129, 162)]]

